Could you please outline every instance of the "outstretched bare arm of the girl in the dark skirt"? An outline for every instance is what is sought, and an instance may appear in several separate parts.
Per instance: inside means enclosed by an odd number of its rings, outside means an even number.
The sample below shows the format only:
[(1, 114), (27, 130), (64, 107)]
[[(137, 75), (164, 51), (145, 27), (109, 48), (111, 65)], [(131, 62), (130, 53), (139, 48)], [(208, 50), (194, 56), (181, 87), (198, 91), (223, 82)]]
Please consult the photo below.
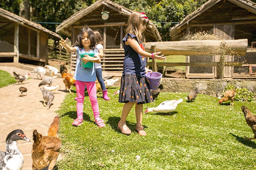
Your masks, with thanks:
[[(129, 36), (127, 42), (125, 42), (125, 43), (127, 43), (126, 45), (130, 45), (130, 47), (132, 47), (141, 56), (145, 56), (147, 58), (152, 58), (152, 54), (148, 53), (147, 51), (143, 51), (135, 38), (132, 38)], [(163, 60), (165, 58), (164, 54), (161, 56), (159, 56), (159, 54), (161, 54), (161, 52), (153, 53), (154, 59)]]

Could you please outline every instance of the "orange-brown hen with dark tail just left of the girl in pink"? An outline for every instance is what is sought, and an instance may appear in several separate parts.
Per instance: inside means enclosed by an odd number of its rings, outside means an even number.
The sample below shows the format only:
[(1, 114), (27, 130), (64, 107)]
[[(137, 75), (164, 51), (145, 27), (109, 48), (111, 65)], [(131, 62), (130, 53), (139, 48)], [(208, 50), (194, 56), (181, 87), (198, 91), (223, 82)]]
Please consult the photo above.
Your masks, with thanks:
[(66, 69), (65, 65), (60, 65), (60, 74), (62, 75), (62, 81), (65, 84), (66, 89), (69, 90), (69, 93), (72, 93), (70, 90), (71, 86), (76, 86), (76, 80), (73, 79), (73, 75), (71, 75)]

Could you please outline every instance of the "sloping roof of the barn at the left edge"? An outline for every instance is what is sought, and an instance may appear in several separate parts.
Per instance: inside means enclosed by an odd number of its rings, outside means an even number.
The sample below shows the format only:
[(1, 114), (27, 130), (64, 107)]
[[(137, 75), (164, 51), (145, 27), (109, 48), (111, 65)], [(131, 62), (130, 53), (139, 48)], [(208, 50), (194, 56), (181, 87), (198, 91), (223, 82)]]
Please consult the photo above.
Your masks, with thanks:
[(22, 18), (21, 16), (13, 14), (12, 12), (9, 12), (5, 9), (0, 8), (0, 20), (3, 21), (3, 20), (6, 20), (6, 19), (10, 20), (10, 21), (13, 21), (14, 23), (18, 23), (21, 26), (25, 26), (25, 27), (28, 27), (28, 28), (32, 27), (33, 29), (42, 30), (45, 33), (48, 33), (48, 34), (50, 34), (54, 37), (61, 38), (61, 36), (58, 35), (57, 33), (54, 33), (52, 31), (44, 28), (43, 26), (41, 26), (38, 23), (34, 23), (32, 21), (29, 21), (27, 19)]

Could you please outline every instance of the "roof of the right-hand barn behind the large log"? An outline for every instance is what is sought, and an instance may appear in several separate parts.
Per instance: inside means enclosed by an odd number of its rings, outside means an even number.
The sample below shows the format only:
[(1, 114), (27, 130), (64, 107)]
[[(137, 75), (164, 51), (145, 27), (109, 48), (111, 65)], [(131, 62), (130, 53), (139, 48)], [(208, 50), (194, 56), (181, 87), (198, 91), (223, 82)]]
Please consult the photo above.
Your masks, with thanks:
[[(201, 7), (196, 9), (194, 12), (187, 15), (182, 21), (180, 21), (180, 23), (178, 23), (175, 26), (173, 26), (172, 28), (170, 28), (171, 39), (173, 41), (178, 40), (179, 39), (179, 35), (178, 35), (179, 31), (178, 30), (182, 26), (189, 23), (189, 21), (191, 21), (195, 17), (199, 16), (203, 12), (206, 12), (208, 9), (210, 9), (214, 5), (218, 4), (218, 2), (220, 2), (220, 1), (222, 1), (222, 0), (209, 0), (209, 1), (207, 1), (206, 3), (201, 5)], [(247, 9), (247, 11), (249, 11), (253, 14), (256, 14), (256, 3), (251, 2), (250, 0), (227, 0), (227, 1), (232, 2), (232, 3), (236, 4), (237, 6), (239, 6), (241, 8)]]

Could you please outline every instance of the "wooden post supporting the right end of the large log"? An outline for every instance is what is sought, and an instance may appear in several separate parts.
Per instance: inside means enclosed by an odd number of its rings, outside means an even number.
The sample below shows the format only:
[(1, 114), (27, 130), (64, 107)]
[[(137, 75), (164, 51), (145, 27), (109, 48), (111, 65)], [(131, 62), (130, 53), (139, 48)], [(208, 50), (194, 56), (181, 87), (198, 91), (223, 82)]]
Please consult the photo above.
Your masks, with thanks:
[(217, 66), (217, 79), (224, 78), (225, 55), (226, 55), (225, 44), (226, 42), (221, 42), (220, 44), (220, 61)]

